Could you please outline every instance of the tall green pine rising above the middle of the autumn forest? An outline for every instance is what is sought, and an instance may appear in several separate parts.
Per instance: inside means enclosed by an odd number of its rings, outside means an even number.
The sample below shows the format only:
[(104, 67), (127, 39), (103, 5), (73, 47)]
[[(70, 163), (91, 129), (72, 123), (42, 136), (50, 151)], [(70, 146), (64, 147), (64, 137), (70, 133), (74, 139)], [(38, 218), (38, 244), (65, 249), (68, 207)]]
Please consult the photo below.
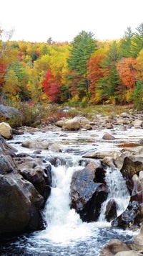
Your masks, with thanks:
[[(76, 86), (77, 94), (82, 98), (88, 94), (89, 79), (87, 78), (87, 61), (97, 49), (97, 41), (92, 32), (82, 31), (71, 42), (68, 67), (71, 69), (69, 86)], [(70, 81), (72, 81), (70, 85)]]

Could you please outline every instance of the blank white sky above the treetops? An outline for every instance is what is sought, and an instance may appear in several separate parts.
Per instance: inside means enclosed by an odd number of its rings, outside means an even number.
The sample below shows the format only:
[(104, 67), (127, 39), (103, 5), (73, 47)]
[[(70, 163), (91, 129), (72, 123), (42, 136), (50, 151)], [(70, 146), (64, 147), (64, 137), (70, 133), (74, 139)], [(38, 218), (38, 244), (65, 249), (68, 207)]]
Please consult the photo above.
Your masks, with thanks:
[(1, 0), (0, 24), (15, 28), (11, 40), (71, 42), (79, 32), (119, 39), (143, 22), (143, 0)]

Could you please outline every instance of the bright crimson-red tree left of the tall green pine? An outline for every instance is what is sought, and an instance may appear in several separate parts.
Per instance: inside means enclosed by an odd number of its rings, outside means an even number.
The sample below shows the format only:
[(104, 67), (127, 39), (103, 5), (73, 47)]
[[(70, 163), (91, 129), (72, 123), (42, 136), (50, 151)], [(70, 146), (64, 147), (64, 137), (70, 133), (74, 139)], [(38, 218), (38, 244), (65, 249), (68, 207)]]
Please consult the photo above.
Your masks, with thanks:
[(51, 73), (51, 69), (49, 68), (46, 71), (45, 79), (41, 82), (44, 92), (47, 96), (49, 96), (50, 101), (58, 101), (60, 96), (60, 86), (56, 78), (54, 78)]

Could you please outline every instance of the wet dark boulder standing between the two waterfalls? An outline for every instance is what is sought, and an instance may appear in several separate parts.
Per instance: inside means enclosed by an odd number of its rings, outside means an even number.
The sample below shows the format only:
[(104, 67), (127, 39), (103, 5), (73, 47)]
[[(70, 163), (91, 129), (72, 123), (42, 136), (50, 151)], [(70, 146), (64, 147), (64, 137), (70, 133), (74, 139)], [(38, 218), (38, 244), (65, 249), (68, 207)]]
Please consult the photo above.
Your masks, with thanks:
[(91, 161), (83, 169), (74, 172), (71, 180), (71, 208), (74, 208), (83, 221), (97, 221), (108, 188), (102, 183), (95, 183), (97, 162)]

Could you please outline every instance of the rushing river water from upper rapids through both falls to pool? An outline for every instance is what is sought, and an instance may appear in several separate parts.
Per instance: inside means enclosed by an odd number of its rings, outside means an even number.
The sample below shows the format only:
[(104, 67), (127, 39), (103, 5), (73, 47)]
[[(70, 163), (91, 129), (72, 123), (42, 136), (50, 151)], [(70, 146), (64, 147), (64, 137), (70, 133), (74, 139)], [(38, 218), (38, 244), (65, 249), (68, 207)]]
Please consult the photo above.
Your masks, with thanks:
[[(47, 134), (47, 140), (59, 140), (58, 133), (49, 132), (49, 134)], [(93, 150), (93, 147), (99, 147), (100, 144), (99, 140), (97, 140), (98, 145), (95, 146), (92, 138), (92, 142), (89, 142), (86, 147), (85, 137), (89, 140), (89, 138), (91, 138), (90, 133), (84, 134), (83, 138), (81, 134), (78, 133), (71, 133), (68, 134), (68, 136), (69, 137), (64, 137), (63, 139), (64, 142), (65, 140), (67, 142), (64, 144), (63, 152), (56, 153), (59, 159), (61, 157), (66, 159), (66, 164), (61, 166), (59, 160), (59, 164), (51, 168), (51, 195), (44, 209), (44, 218), (48, 226), (43, 231), (3, 239), (0, 247), (1, 256), (96, 256), (100, 254), (102, 247), (104, 247), (109, 240), (114, 238), (126, 240), (131, 238), (132, 235), (135, 235), (133, 232), (111, 227), (110, 223), (104, 219), (104, 211), (109, 199), (114, 198), (117, 202), (118, 214), (124, 211), (129, 201), (129, 193), (124, 179), (116, 168), (107, 168), (106, 180), (107, 186), (109, 187), (109, 196), (107, 201), (102, 205), (99, 221), (83, 223), (74, 209), (70, 209), (71, 177), (75, 170), (83, 168), (79, 166), (82, 152)], [(36, 137), (39, 137), (39, 133), (31, 135), (31, 140), (33, 138), (36, 139)], [(45, 134), (40, 134), (40, 137), (45, 137)], [(24, 134), (19, 137), (16, 136), (15, 139), (11, 141), (11, 145), (14, 145), (14, 142), (20, 140), (27, 140), (27, 138), (30, 138), (29, 134)], [(77, 142), (77, 147), (75, 142)], [(111, 145), (111, 147), (114, 146), (115, 145)], [(15, 144), (14, 147), (17, 147), (19, 152), (29, 152), (31, 155), (34, 154), (34, 150), (22, 149), (19, 144)], [(47, 150), (42, 150), (41, 152), (41, 157), (46, 161), (49, 160), (51, 155), (55, 155), (55, 153), (47, 152)]]

